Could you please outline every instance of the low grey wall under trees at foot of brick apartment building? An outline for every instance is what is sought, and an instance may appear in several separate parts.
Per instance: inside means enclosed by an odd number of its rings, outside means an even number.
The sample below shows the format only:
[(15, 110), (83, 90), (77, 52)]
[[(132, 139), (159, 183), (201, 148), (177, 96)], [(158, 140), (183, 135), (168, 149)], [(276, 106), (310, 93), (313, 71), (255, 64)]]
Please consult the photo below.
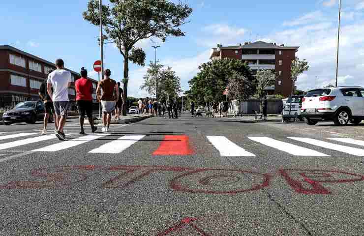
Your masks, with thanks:
[[(267, 114), (281, 114), (282, 110), (282, 100), (268, 100)], [(246, 100), (240, 104), (236, 100), (229, 102), (229, 113), (245, 115), (255, 112), (260, 112), (260, 100)]]

